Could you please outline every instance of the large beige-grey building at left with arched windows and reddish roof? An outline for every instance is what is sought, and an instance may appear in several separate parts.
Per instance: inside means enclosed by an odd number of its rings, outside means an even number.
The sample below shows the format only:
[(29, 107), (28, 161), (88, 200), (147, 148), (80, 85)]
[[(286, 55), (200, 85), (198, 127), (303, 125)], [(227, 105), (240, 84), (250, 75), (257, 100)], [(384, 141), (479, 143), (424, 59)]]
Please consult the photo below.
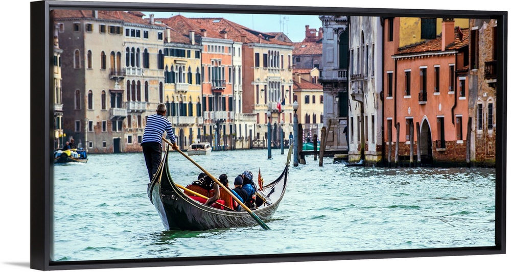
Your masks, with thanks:
[[(124, 151), (126, 71), (117, 58), (125, 51), (123, 18), (106, 11), (53, 12), (61, 24), (64, 133), (89, 153)], [(107, 61), (111, 54), (114, 65)]]

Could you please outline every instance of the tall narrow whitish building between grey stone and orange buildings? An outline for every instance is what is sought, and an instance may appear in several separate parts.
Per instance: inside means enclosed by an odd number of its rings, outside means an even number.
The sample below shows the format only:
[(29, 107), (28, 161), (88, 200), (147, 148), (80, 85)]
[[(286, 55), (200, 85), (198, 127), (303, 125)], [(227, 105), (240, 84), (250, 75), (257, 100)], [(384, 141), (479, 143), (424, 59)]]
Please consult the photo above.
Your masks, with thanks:
[(379, 17), (350, 16), (348, 21), (349, 160), (376, 165), (382, 161), (383, 28)]

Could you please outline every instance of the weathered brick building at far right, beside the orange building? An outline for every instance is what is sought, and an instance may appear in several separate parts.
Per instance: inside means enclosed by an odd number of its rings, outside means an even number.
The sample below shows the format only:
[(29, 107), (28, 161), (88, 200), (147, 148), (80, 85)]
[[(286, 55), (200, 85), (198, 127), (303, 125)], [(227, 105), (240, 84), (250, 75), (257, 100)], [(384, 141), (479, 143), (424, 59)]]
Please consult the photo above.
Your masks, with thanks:
[(497, 21), (470, 20), (467, 162), (495, 166), (497, 106)]

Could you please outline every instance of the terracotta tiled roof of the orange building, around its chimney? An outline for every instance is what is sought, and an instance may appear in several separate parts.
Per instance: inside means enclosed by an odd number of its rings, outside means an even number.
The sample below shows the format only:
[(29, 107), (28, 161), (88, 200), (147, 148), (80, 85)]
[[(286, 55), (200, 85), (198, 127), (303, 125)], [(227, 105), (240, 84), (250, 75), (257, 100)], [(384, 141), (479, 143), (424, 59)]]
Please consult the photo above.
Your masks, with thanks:
[[(461, 39), (458, 32), (458, 27), (454, 29), (454, 41), (446, 46), (446, 50), (457, 50), (469, 44), (469, 29), (460, 29)], [(442, 51), (442, 34), (438, 35), (436, 39), (425, 40), (420, 43), (408, 45), (398, 49), (396, 55), (417, 54), (427, 52)]]

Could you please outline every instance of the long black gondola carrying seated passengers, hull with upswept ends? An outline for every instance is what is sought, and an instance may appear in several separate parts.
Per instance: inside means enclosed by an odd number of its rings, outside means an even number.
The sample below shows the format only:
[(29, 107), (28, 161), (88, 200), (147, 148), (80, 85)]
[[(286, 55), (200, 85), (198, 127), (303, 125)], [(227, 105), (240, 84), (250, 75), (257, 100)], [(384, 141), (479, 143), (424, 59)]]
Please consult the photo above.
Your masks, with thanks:
[[(258, 190), (255, 201), (257, 208), (250, 209), (263, 221), (272, 218), (284, 196), (290, 155), (291, 148), (282, 174), (275, 181), (263, 186), (263, 190)], [(203, 231), (257, 225), (257, 221), (246, 210), (234, 211), (219, 205), (206, 206), (185, 193), (180, 188), (182, 186), (174, 183), (171, 178), (168, 156), (167, 148), (158, 172), (147, 188), (149, 200), (156, 208), (166, 230)]]

